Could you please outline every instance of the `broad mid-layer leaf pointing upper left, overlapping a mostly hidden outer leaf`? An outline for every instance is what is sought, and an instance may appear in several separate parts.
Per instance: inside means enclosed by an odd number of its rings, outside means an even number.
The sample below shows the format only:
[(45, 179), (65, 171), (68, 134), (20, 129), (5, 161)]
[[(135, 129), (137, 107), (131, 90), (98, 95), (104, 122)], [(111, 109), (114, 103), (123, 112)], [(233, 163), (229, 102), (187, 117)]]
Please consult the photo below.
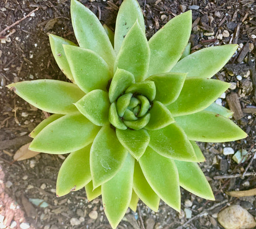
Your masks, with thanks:
[(111, 79), (108, 64), (90, 49), (66, 44), (63, 48), (78, 87), (86, 93), (95, 89), (106, 91)]

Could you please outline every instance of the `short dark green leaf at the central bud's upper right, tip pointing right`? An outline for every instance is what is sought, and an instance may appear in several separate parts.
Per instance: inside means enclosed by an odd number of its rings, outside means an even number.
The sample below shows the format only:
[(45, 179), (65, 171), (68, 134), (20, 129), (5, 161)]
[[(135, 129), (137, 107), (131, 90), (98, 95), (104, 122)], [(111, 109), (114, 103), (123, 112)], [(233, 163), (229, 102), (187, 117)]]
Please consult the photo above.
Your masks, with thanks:
[(186, 75), (186, 73), (166, 72), (152, 75), (147, 80), (153, 81), (156, 85), (156, 100), (168, 105), (178, 98)]

